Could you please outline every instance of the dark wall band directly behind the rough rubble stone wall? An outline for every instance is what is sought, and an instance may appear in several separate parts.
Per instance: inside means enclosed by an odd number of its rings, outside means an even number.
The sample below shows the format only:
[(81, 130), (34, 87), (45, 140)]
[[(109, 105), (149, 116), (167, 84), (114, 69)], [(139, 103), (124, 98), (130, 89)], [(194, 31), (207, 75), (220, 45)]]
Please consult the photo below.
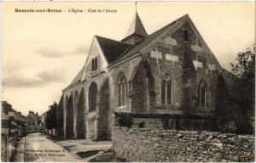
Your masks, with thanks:
[(247, 119), (221, 119), (200, 115), (134, 114), (114, 112), (114, 126), (127, 126), (178, 131), (209, 131), (253, 134), (254, 126)]

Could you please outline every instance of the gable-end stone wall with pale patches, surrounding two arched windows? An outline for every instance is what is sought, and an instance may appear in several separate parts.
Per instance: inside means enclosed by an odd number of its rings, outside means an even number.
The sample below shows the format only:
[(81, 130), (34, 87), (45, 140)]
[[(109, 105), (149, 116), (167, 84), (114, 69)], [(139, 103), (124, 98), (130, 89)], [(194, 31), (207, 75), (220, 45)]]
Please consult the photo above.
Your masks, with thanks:
[[(184, 41), (184, 31), (188, 31), (188, 41)], [(148, 44), (142, 50), (143, 58), (148, 59), (154, 76), (155, 91), (155, 113), (159, 114), (183, 114), (180, 110), (182, 106), (183, 87), (191, 87), (189, 98), (196, 100), (196, 87), (198, 80), (203, 78), (207, 82), (206, 90), (206, 108), (201, 110), (202, 114), (208, 114), (214, 110), (212, 93), (210, 90), (211, 79), (216, 75), (216, 70), (222, 70), (217, 59), (202, 40), (200, 34), (193, 30), (188, 23), (180, 26), (177, 31), (167, 30), (163, 35), (155, 38), (154, 42)], [(186, 63), (185, 58), (191, 60), (189, 74), (184, 75), (185, 70), (183, 64)], [(192, 63), (193, 62), (193, 63)], [(191, 74), (195, 71), (195, 80), (191, 78)], [(172, 104), (161, 103), (161, 81), (166, 72), (169, 72), (172, 78)], [(182, 76), (186, 76), (187, 83), (183, 82)], [(195, 103), (195, 102), (194, 102)], [(191, 107), (193, 104), (189, 104)], [(208, 114), (209, 115), (209, 114)]]

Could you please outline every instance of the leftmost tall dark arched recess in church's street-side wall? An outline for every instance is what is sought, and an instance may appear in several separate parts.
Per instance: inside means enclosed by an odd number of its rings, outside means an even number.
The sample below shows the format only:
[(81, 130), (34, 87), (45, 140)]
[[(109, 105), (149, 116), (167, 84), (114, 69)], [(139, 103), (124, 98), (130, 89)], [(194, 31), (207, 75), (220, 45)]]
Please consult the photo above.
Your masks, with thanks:
[(66, 138), (73, 138), (73, 95), (67, 100)]

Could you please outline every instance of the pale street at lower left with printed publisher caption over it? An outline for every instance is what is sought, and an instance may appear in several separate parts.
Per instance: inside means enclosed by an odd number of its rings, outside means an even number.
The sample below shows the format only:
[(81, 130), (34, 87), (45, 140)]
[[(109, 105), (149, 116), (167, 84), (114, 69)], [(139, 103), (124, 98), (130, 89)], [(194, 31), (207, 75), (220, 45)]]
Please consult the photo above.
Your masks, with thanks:
[(25, 161), (28, 162), (77, 162), (78, 156), (70, 155), (67, 150), (55, 144), (45, 135), (31, 133), (26, 136)]

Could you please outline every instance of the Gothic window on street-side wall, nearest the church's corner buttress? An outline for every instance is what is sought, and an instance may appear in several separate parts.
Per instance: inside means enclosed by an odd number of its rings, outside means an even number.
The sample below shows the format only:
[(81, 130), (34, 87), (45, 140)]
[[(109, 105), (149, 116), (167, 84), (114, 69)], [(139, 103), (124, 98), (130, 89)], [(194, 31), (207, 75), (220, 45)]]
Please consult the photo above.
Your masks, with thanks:
[(120, 77), (119, 83), (119, 106), (126, 104), (126, 97), (127, 97), (127, 79), (125, 75)]

